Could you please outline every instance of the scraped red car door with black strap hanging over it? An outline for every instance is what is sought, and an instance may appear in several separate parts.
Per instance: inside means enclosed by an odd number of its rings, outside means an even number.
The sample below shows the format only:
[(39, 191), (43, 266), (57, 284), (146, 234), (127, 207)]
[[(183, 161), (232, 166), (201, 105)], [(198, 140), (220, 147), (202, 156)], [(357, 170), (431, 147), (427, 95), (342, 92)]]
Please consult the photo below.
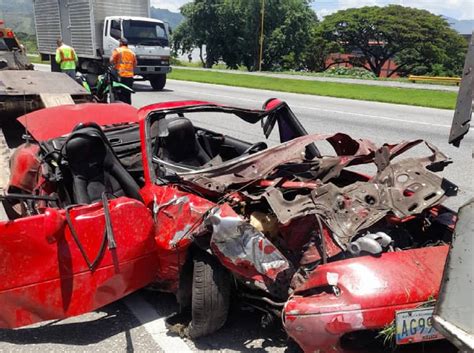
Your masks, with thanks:
[(109, 210), (115, 248), (101, 203), (71, 208), (69, 222), (56, 209), (0, 222), (0, 328), (86, 313), (153, 281), (150, 211), (124, 197)]

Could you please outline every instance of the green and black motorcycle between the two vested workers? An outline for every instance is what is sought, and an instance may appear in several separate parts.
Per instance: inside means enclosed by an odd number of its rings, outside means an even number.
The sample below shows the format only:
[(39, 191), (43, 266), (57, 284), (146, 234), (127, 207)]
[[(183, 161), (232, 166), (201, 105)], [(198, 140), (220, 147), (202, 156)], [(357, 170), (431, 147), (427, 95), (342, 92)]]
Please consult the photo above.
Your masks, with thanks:
[(86, 73), (76, 73), (77, 83), (92, 94), (93, 100), (98, 103), (120, 101), (120, 93), (123, 91), (135, 93), (133, 89), (119, 82), (112, 65), (89, 62), (81, 66), (81, 70)]

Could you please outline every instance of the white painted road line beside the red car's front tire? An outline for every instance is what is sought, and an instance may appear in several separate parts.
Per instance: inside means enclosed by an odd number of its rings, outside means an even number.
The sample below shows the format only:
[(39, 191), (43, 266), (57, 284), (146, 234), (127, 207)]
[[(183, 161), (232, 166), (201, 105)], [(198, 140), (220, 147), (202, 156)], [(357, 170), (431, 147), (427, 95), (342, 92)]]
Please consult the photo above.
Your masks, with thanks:
[(124, 302), (165, 353), (192, 352), (181, 337), (168, 335), (164, 315), (159, 312), (159, 309), (147, 303), (140, 294), (131, 294), (124, 299)]

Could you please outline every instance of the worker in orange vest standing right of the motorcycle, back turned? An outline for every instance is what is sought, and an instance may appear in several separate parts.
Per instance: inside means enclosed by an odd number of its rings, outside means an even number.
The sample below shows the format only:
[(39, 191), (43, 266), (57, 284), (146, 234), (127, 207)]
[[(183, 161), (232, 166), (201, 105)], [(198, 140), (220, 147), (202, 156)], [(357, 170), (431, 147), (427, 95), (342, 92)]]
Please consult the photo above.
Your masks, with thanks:
[[(112, 52), (110, 62), (114, 64), (120, 82), (133, 89), (133, 76), (137, 66), (137, 57), (128, 47), (128, 41), (125, 38), (121, 38), (119, 44), (120, 46)], [(121, 91), (119, 99), (124, 103), (132, 104), (132, 94), (129, 91)]]

